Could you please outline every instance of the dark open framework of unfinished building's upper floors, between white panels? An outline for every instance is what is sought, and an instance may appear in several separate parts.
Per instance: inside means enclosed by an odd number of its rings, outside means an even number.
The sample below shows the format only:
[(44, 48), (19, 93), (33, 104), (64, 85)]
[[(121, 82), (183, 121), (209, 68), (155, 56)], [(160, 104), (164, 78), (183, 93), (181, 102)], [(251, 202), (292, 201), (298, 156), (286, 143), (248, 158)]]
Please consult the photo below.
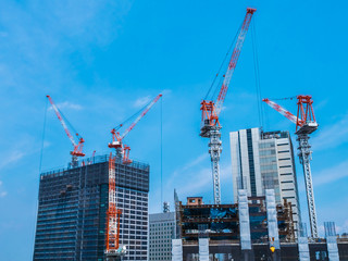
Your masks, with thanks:
[[(265, 197), (248, 197), (251, 241), (268, 243), (268, 216)], [(183, 204), (178, 202), (178, 226), (185, 243), (197, 241), (200, 234), (207, 234), (210, 241), (239, 244), (238, 204)], [(276, 206), (277, 226), (281, 241), (295, 241), (291, 204)], [(202, 227), (206, 227), (202, 231)]]

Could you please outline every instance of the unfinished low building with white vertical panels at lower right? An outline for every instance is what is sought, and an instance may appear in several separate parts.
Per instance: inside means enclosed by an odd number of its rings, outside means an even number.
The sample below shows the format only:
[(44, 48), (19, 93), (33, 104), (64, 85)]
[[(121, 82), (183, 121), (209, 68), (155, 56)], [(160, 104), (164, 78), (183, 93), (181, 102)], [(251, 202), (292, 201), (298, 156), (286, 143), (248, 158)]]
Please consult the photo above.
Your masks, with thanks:
[(202, 198), (176, 201), (176, 261), (348, 260), (348, 240), (337, 239), (333, 224), (325, 238), (295, 235), (291, 203), (276, 204), (273, 189), (263, 197), (238, 190), (238, 203), (204, 204)]

